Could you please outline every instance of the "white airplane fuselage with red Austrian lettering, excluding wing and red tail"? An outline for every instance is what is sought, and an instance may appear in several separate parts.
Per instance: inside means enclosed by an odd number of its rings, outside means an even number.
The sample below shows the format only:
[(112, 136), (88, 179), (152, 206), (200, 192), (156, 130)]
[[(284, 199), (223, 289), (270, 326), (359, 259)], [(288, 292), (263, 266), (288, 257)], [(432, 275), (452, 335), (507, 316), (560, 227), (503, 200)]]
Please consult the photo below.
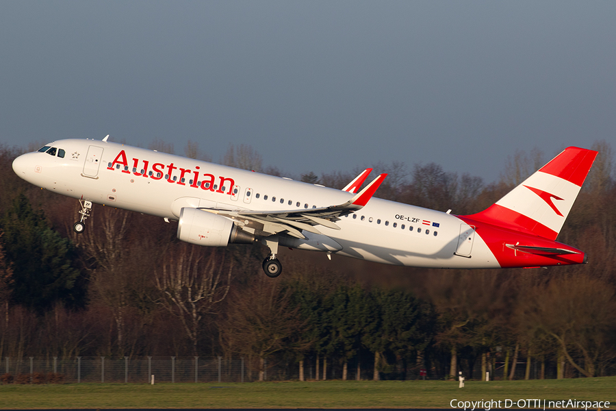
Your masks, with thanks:
[[(177, 220), (183, 207), (281, 211), (348, 201), (349, 192), (100, 140), (50, 143), (64, 158), (35, 152), (14, 162), (23, 179), (93, 203)], [(207, 182), (207, 183), (206, 183)], [(320, 227), (341, 256), (437, 268), (500, 267), (485, 242), (457, 216), (370, 199)], [(470, 231), (469, 231), (470, 230)]]

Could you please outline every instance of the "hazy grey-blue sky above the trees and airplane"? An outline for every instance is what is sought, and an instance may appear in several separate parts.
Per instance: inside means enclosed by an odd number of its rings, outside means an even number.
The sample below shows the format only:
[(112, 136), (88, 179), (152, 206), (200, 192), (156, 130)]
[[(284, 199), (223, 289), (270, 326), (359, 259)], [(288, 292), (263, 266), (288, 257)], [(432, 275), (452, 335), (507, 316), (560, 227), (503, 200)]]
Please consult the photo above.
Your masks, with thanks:
[(290, 175), (616, 142), (615, 1), (0, 1), (0, 142), (103, 138)]

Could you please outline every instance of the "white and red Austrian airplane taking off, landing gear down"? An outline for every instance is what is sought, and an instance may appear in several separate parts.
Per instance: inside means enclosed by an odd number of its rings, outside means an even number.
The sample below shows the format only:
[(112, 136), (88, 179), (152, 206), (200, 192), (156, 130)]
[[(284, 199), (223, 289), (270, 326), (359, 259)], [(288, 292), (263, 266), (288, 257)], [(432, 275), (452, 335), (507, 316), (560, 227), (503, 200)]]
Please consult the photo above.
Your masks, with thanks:
[(103, 140), (50, 142), (18, 156), (14, 172), (79, 200), (84, 232), (92, 203), (177, 221), (196, 245), (266, 245), (269, 277), (282, 271), (279, 247), (385, 264), (492, 269), (584, 264), (556, 241), (597, 151), (568, 147), (482, 212), (454, 215), (373, 198), (386, 174), (363, 189), (366, 169), (343, 190), (297, 182)]

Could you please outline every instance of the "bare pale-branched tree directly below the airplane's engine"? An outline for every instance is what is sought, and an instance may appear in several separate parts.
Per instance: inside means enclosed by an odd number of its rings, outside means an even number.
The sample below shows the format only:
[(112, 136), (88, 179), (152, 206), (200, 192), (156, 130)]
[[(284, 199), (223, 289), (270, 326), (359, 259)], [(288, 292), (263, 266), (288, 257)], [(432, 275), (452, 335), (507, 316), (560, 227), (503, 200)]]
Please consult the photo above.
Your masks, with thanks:
[(227, 297), (232, 270), (233, 262), (225, 264), (224, 252), (183, 243), (167, 253), (162, 270), (154, 271), (156, 288), (162, 292), (156, 302), (180, 319), (195, 356), (201, 320)]

